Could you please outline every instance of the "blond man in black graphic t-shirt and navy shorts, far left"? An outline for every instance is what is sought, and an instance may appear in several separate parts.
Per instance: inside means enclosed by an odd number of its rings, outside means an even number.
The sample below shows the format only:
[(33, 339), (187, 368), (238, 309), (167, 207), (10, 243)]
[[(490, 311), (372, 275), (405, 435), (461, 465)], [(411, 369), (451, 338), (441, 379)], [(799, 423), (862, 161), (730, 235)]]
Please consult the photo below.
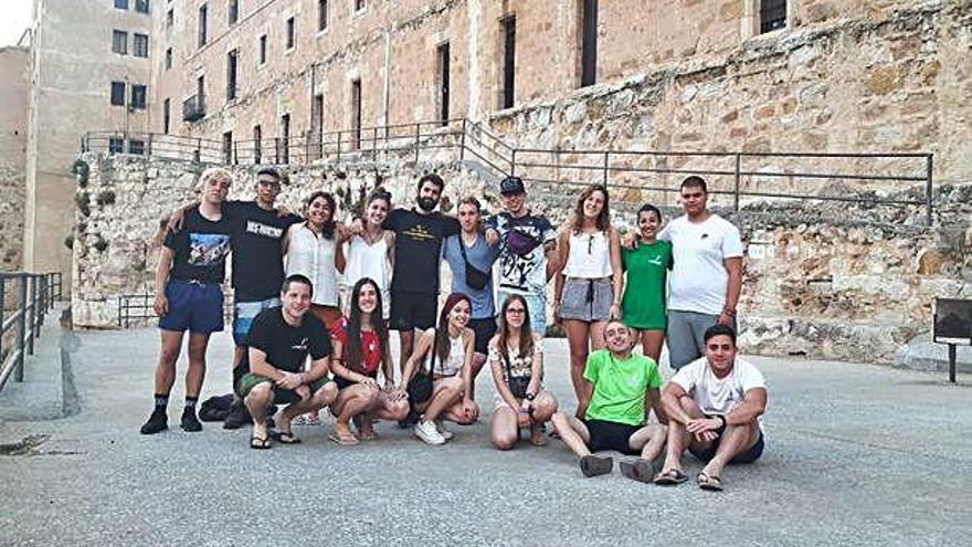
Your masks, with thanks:
[(205, 350), (212, 333), (223, 329), (223, 290), (232, 227), (222, 203), (233, 179), (229, 171), (211, 168), (200, 176), (202, 196), (186, 213), (182, 229), (169, 231), (156, 271), (155, 312), (159, 315), (161, 350), (156, 368), (155, 409), (141, 427), (142, 434), (168, 429), (169, 392), (176, 381), (176, 361), (189, 330), (189, 370), (182, 429), (200, 431), (196, 402), (205, 377)]

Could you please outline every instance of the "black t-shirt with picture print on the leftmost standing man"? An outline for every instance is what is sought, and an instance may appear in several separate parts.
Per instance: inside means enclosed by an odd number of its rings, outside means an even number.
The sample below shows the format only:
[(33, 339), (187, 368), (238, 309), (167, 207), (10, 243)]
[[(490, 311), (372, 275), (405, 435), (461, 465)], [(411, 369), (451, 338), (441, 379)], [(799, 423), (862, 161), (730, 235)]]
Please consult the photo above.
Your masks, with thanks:
[(213, 222), (200, 214), (199, 206), (187, 211), (182, 228), (166, 234), (163, 244), (175, 252), (169, 277), (222, 283), (232, 234), (233, 224), (225, 213)]

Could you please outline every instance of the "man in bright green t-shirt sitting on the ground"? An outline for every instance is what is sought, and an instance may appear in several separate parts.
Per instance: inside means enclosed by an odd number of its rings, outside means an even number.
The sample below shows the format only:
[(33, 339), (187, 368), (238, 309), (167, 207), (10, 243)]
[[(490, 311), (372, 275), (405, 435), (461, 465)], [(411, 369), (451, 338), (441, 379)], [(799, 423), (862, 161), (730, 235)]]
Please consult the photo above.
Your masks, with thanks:
[[(632, 354), (634, 333), (619, 319), (608, 323), (604, 341), (606, 348), (592, 353), (584, 368), (585, 385), (592, 390), (584, 420), (558, 412), (553, 414), (553, 427), (563, 443), (580, 456), (584, 476), (610, 473), (614, 460), (592, 452), (615, 450), (640, 455), (635, 462), (622, 462), (621, 472), (649, 483), (655, 476), (653, 462), (665, 446), (668, 422), (659, 401), (658, 365), (649, 357)], [(647, 423), (649, 408), (655, 409), (661, 423)]]

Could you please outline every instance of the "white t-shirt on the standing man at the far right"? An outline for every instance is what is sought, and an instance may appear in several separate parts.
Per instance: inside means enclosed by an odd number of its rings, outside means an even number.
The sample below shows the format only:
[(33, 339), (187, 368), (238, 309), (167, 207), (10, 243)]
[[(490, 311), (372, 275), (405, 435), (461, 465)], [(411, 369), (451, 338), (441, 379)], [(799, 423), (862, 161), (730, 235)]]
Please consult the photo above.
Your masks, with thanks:
[(668, 275), (668, 309), (722, 313), (729, 284), (722, 261), (742, 256), (739, 229), (718, 214), (698, 223), (679, 217), (662, 230), (658, 239), (672, 242), (675, 262)]

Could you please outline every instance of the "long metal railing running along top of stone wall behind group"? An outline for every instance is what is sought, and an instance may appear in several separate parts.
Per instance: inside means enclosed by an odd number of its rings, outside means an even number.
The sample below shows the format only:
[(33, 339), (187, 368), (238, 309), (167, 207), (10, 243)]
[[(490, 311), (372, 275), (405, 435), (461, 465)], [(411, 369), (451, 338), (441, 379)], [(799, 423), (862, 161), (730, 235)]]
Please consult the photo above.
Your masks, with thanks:
[[(326, 161), (475, 159), (497, 176), (529, 183), (678, 192), (687, 175), (709, 179), (712, 193), (746, 199), (818, 200), (867, 206), (920, 206), (932, 223), (931, 154), (731, 152), (516, 147), (465, 118), (305, 133), (225, 143), (157, 134), (88, 133), (82, 149), (115, 154), (118, 139), (146, 143), (146, 154), (234, 165)], [(116, 148), (117, 149), (117, 148)], [(229, 158), (226, 156), (230, 156)], [(229, 161), (226, 161), (229, 159)]]

